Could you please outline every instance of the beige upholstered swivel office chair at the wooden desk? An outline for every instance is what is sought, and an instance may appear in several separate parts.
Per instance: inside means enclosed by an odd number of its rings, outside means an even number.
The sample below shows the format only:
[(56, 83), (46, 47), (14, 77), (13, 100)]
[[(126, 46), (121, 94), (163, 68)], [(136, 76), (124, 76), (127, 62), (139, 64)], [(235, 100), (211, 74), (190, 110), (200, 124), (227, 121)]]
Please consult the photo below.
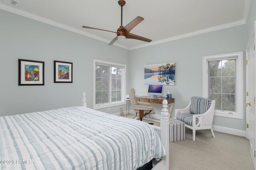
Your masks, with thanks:
[(141, 121), (142, 121), (142, 118), (144, 117), (144, 115), (155, 113), (154, 108), (153, 108), (153, 106), (150, 106), (151, 105), (150, 103), (136, 101), (134, 88), (130, 88), (129, 98), (130, 98), (130, 103), (132, 105), (132, 108), (134, 110), (134, 115), (136, 115), (135, 119), (138, 118), (138, 116), (137, 116), (138, 113), (140, 113), (139, 117), (140, 117)]

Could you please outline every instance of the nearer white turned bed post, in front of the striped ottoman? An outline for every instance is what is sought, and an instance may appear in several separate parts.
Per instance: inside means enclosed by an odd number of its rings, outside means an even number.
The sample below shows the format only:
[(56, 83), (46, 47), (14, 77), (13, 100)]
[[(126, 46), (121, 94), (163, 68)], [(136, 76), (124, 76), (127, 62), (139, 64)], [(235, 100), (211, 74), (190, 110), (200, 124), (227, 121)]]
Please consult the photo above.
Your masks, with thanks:
[(163, 109), (161, 112), (162, 118), (160, 120), (161, 128), (161, 141), (166, 149), (166, 157), (164, 159), (165, 168), (164, 170), (169, 170), (169, 119), (168, 119), (168, 109), (167, 100), (163, 101)]

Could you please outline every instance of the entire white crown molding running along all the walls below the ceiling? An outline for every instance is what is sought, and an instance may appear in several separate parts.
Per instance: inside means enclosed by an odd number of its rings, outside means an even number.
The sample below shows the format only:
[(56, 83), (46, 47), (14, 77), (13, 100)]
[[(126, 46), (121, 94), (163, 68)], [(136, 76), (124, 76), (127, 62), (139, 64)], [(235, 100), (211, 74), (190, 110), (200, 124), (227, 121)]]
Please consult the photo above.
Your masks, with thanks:
[[(206, 28), (206, 29), (201, 29), (201, 30), (198, 30), (198, 31), (185, 33), (185, 34), (182, 34), (182, 35), (177, 35), (177, 36), (174, 36), (174, 37), (169, 37), (169, 38), (166, 38), (166, 39), (161, 39), (161, 40), (158, 40), (158, 41), (153, 41), (153, 42), (142, 44), (142, 45), (136, 45), (134, 47), (127, 47), (127, 46), (121, 45), (119, 43), (115, 43), (114, 45), (117, 46), (117, 47), (127, 49), (127, 50), (134, 50), (134, 49), (139, 49), (139, 48), (142, 48), (142, 47), (148, 47), (148, 46), (156, 45), (156, 44), (160, 44), (160, 43), (166, 43), (168, 41), (174, 41), (174, 40), (177, 40), (177, 39), (191, 37), (191, 36), (199, 35), (199, 34), (202, 34), (202, 33), (208, 33), (208, 32), (211, 32), (211, 31), (217, 31), (217, 30), (220, 30), (220, 29), (228, 28), (228, 27), (234, 27), (234, 26), (237, 26), (237, 25), (242, 25), (242, 24), (245, 24), (247, 22), (249, 10), (250, 10), (250, 2), (251, 2), (251, 0), (245, 0), (243, 20), (234, 21), (234, 22), (230, 22), (230, 23), (226, 23), (226, 24), (222, 24), (222, 25), (218, 25), (218, 26), (214, 26), (214, 27), (210, 27), (210, 28)], [(78, 34), (81, 34), (81, 35), (84, 35), (84, 36), (87, 36), (87, 37), (90, 37), (90, 38), (93, 38), (93, 39), (97, 39), (97, 40), (103, 41), (105, 43), (110, 43), (110, 41), (108, 39), (99, 37), (97, 35), (88, 33), (86, 31), (82, 31), (82, 30), (74, 28), (74, 27), (70, 27), (68, 25), (65, 25), (65, 24), (62, 24), (62, 23), (59, 23), (59, 22), (56, 22), (56, 21), (53, 21), (53, 20), (49, 20), (47, 18), (32, 14), (30, 12), (26, 12), (24, 10), (20, 10), (18, 8), (15, 8), (13, 6), (9, 6), (7, 4), (3, 4), (1, 2), (0, 2), (0, 9), (6, 10), (8, 12), (12, 12), (14, 14), (18, 14), (20, 16), (31, 18), (33, 20), (37, 20), (37, 21), (40, 21), (40, 22), (43, 22), (43, 23), (47, 23), (47, 24), (53, 25), (55, 27), (66, 29), (68, 31), (72, 31), (72, 32), (75, 32), (75, 33), (78, 33)]]

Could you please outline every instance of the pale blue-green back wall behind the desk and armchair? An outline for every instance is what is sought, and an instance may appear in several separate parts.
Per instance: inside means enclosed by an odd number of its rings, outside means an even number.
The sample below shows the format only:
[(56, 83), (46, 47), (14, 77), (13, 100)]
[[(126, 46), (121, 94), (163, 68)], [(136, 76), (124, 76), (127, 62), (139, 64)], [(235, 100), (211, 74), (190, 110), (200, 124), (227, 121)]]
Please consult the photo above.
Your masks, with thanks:
[[(148, 85), (144, 84), (144, 65), (175, 62), (176, 84), (164, 86), (163, 90), (164, 95), (169, 90), (175, 98), (172, 112), (174, 117), (175, 109), (186, 107), (191, 96), (202, 96), (202, 56), (245, 51), (246, 34), (247, 27), (244, 24), (132, 50), (130, 51), (130, 87), (135, 89), (138, 96), (146, 95)], [(155, 104), (154, 107), (160, 114), (162, 106)], [(244, 119), (215, 116), (213, 124), (245, 130), (245, 120), (244, 107)]]

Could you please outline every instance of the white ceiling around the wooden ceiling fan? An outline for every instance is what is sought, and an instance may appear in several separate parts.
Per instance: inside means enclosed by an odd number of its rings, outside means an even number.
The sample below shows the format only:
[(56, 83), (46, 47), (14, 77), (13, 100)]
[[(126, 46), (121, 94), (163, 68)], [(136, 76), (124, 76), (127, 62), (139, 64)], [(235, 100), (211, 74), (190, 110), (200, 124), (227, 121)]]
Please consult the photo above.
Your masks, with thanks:
[[(9, 11), (23, 15), (27, 12), (30, 18), (33, 18), (32, 13), (48, 19), (51, 24), (56, 21), (68, 25), (75, 28), (76, 32), (83, 31), (82, 34), (105, 42), (110, 42), (116, 34), (84, 29), (82, 25), (110, 31), (116, 31), (120, 26), (121, 7), (118, 0), (19, 1), (18, 7), (1, 1), (0, 8), (6, 10), (7, 6)], [(116, 41), (114, 45), (135, 49), (170, 41), (195, 31), (202, 33), (246, 23), (249, 6), (250, 0), (126, 0), (123, 25), (137, 16), (143, 17), (144, 20), (131, 33), (152, 39), (152, 42), (124, 39)]]

